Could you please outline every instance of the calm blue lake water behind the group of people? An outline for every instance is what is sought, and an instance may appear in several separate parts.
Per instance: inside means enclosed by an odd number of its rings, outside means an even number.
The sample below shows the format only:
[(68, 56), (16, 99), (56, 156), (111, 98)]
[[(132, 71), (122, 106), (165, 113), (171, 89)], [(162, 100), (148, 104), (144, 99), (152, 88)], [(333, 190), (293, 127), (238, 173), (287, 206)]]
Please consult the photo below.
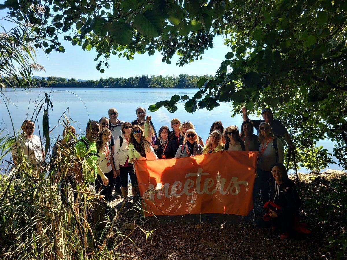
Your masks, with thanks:
[[(206, 109), (197, 110), (193, 114), (184, 109), (184, 103), (177, 105), (178, 110), (175, 113), (168, 112), (164, 107), (156, 112), (149, 112), (148, 107), (158, 101), (169, 100), (172, 95), (188, 95), (192, 97), (196, 89), (129, 89), (129, 88), (32, 88), (29, 90), (7, 89), (4, 95), (8, 100), (0, 100), (0, 129), (3, 130), (1, 136), (10, 134), (13, 136), (13, 126), (16, 131), (20, 129), (22, 122), (28, 117), (32, 118), (35, 106), (42, 103), (44, 93), (50, 93), (50, 99), (53, 103), (53, 111), (50, 111), (49, 122), (50, 129), (54, 128), (64, 112), (69, 109), (71, 125), (76, 128), (77, 133), (85, 131), (88, 118), (97, 120), (102, 116), (108, 117), (110, 107), (115, 107), (118, 111), (118, 119), (123, 121), (133, 121), (137, 118), (135, 110), (138, 106), (147, 109), (147, 115), (152, 116), (154, 127), (158, 131), (162, 125), (170, 128), (172, 118), (178, 118), (181, 122), (190, 121), (194, 124), (195, 130), (205, 141), (209, 136), (211, 124), (220, 120), (224, 127), (228, 125), (237, 125), (239, 128), (242, 123), (242, 115), (231, 117), (231, 107), (229, 103), (222, 103), (212, 111)], [(36, 104), (35, 104), (36, 102)], [(6, 105), (10, 111), (7, 111)], [(66, 112), (68, 116), (68, 113)], [(36, 112), (35, 112), (36, 116)], [(34, 118), (35, 118), (34, 116)], [(251, 117), (252, 119), (259, 119)], [(34, 134), (38, 135), (39, 128), (42, 127), (42, 111), (38, 115), (38, 122)], [(51, 132), (51, 140), (56, 140), (62, 133), (62, 126), (56, 127)], [(333, 142), (328, 140), (319, 142), (330, 152), (333, 148)], [(10, 157), (6, 156), (6, 160)], [(3, 165), (1, 165), (3, 166)], [(330, 166), (333, 169), (342, 170), (337, 165)], [(307, 172), (300, 169), (301, 172)]]

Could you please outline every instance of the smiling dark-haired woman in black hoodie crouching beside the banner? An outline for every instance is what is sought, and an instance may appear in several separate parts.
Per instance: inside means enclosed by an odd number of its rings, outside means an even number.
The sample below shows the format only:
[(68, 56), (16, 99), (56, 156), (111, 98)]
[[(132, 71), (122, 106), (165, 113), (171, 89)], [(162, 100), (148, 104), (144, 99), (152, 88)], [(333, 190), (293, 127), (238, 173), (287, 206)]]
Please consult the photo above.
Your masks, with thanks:
[(281, 163), (271, 166), (270, 201), (264, 208), (267, 213), (257, 219), (258, 227), (271, 226), (274, 231), (281, 229), (281, 240), (288, 239), (289, 233), (294, 231), (294, 218), (296, 210), (301, 206), (301, 200), (295, 189), (295, 183), (288, 178), (286, 167)]

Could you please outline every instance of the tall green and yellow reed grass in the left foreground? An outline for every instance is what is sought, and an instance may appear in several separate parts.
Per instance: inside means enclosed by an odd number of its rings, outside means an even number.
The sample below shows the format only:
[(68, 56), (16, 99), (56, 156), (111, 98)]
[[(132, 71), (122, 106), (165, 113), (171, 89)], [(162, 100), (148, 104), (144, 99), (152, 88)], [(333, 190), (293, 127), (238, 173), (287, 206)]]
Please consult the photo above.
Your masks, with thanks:
[[(37, 103), (32, 120), (35, 121), (35, 133), (43, 140), (46, 162), (50, 162), (51, 142), (49, 113), (53, 109), (50, 95), (45, 94), (41, 103)], [(10, 111), (8, 111), (10, 113)], [(43, 121), (37, 122), (39, 113)], [(69, 125), (69, 117), (61, 117), (58, 125)], [(54, 124), (56, 125), (56, 124)], [(13, 127), (13, 136), (1, 138), (1, 157), (3, 158), (15, 144), (17, 133)], [(42, 135), (42, 136), (41, 136)], [(75, 157), (61, 157), (65, 169), (74, 164)], [(52, 161), (51, 161), (52, 162)], [(53, 163), (44, 167), (35, 167), (25, 156), (18, 165), (9, 162), (7, 174), (0, 175), (0, 258), (1, 259), (118, 259), (117, 249), (129, 234), (118, 229), (122, 215), (120, 211), (105, 219), (102, 231), (96, 232), (92, 224), (92, 209), (98, 195), (86, 190), (77, 182), (78, 193), (74, 203), (72, 188), (60, 198), (64, 178), (57, 177), (57, 166)], [(10, 169), (11, 168), (11, 169)], [(10, 173), (10, 174), (8, 174)], [(22, 178), (15, 179), (15, 173)], [(67, 174), (68, 170), (62, 171)], [(138, 209), (141, 207), (137, 207)], [(124, 214), (124, 213), (122, 213)], [(144, 231), (147, 237), (151, 232)], [(133, 232), (133, 231), (132, 231)], [(130, 232), (130, 234), (132, 233)]]

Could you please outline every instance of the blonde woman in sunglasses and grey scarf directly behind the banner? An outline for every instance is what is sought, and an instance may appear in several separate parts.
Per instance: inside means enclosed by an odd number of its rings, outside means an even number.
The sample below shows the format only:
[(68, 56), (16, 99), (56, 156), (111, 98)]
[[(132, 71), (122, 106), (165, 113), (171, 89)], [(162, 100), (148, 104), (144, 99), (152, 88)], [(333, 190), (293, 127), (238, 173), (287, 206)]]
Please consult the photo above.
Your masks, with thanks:
[(175, 158), (202, 154), (202, 146), (198, 144), (199, 137), (194, 129), (188, 129), (184, 136), (183, 145), (178, 147)]

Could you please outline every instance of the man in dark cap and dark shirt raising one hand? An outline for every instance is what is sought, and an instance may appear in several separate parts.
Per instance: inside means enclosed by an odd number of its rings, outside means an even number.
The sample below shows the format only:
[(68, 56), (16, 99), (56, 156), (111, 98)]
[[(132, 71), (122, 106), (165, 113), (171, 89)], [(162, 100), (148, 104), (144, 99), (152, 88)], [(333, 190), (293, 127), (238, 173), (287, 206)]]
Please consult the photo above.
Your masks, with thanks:
[[(288, 130), (281, 123), (281, 121), (274, 119), (272, 117), (272, 115), (273, 115), (272, 110), (270, 108), (265, 108), (261, 111), (261, 114), (262, 114), (264, 120), (251, 120), (253, 123), (253, 126), (255, 127), (257, 132), (259, 131), (259, 125), (262, 122), (269, 123), (271, 125), (271, 128), (272, 128), (274, 135), (276, 137), (283, 136), (284, 138), (286, 138), (286, 141), (287, 141), (289, 147), (291, 149), (294, 149), (295, 147), (294, 147), (293, 143), (291, 142), (290, 136), (288, 135)], [(244, 121), (250, 120), (248, 115), (247, 115), (247, 110), (245, 107), (242, 107), (242, 118)]]

